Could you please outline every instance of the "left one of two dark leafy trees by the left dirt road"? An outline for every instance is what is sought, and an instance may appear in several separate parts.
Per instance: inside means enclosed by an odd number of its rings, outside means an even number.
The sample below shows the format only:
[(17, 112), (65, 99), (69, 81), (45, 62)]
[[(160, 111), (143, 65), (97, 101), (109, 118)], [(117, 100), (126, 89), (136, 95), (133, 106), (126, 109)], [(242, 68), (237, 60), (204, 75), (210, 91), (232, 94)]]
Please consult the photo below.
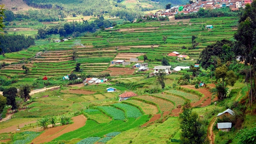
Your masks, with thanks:
[(15, 87), (10, 87), (8, 89), (5, 89), (3, 91), (3, 96), (6, 97), (7, 100), (7, 105), (11, 105), (12, 106), (12, 110), (16, 110), (17, 109), (17, 103), (16, 103), (16, 96), (17, 96), (17, 88)]

